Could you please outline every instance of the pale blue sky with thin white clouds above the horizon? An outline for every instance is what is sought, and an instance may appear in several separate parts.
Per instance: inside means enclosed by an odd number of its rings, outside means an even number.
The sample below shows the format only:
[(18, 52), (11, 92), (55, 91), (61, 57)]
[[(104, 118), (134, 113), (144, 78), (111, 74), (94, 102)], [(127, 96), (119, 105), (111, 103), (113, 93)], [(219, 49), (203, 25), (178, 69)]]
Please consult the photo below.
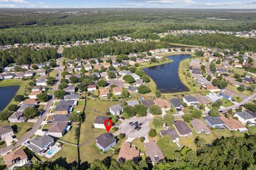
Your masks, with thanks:
[(0, 8), (256, 8), (253, 0), (0, 0)]

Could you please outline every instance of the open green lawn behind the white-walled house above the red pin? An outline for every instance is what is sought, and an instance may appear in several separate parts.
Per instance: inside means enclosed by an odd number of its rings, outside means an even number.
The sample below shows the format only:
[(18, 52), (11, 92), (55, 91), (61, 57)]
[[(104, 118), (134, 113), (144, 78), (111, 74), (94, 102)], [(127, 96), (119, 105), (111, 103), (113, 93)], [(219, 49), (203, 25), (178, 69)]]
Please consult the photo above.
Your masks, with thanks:
[(87, 99), (86, 106), (95, 109), (96, 111), (106, 113), (110, 106), (118, 104), (119, 101), (103, 101)]

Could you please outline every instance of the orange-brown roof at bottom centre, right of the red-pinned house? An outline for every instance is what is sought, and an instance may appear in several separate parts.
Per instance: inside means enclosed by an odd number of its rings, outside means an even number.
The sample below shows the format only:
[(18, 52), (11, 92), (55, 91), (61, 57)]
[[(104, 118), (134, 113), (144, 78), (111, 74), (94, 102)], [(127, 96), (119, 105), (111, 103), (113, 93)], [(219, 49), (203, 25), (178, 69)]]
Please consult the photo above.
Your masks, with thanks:
[(131, 143), (123, 142), (118, 155), (119, 162), (125, 162), (126, 160), (133, 160), (138, 162), (140, 156), (140, 150), (135, 147), (131, 147)]

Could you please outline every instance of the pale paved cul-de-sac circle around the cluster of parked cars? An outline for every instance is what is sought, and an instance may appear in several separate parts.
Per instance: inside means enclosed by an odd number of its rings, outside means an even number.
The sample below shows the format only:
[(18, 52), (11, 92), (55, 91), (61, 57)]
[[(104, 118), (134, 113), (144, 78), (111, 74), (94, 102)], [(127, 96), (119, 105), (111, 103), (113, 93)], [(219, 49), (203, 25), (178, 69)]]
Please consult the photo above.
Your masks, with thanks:
[[(125, 133), (126, 137), (128, 138), (140, 138), (146, 137), (150, 130), (149, 123), (153, 120), (154, 117), (140, 117), (140, 118), (130, 118), (129, 120), (124, 120), (121, 123), (121, 132)], [(139, 131), (135, 130), (135, 126), (130, 126), (130, 122), (143, 123), (141, 125), (141, 129)]]

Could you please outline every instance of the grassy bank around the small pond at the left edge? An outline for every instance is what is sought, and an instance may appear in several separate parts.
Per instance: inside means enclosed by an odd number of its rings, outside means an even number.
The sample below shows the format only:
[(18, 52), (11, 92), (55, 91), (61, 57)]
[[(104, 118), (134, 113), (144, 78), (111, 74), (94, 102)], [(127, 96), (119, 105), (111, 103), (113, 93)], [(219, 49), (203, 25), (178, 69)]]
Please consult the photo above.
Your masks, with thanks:
[[(27, 96), (29, 95), (29, 91), (27, 91), (27, 86), (28, 86), (28, 83), (30, 82), (31, 80), (21, 80), (21, 79), (12, 79), (12, 80), (1, 80), (0, 81), (0, 87), (5, 87), (5, 86), (20, 86), (19, 90), (16, 92), (16, 95), (24, 95), (24, 96)], [(12, 99), (10, 101), (10, 103), (5, 107), (5, 109), (11, 105), (11, 104), (15, 104), (15, 105), (18, 105), (19, 102), (18, 101), (14, 101), (14, 99)]]

